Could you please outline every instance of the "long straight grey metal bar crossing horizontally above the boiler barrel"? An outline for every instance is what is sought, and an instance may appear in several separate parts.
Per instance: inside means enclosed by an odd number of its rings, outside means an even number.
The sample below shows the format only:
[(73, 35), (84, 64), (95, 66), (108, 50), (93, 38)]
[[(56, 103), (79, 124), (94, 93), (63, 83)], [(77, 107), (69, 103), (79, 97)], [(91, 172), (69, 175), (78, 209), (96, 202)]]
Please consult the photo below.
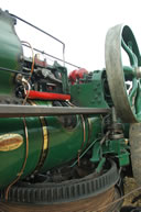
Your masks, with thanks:
[(45, 105), (15, 105), (1, 104), (0, 118), (24, 118), (24, 116), (51, 116), (51, 115), (72, 115), (72, 114), (107, 114), (110, 109), (99, 108), (68, 108), (68, 107), (45, 107)]

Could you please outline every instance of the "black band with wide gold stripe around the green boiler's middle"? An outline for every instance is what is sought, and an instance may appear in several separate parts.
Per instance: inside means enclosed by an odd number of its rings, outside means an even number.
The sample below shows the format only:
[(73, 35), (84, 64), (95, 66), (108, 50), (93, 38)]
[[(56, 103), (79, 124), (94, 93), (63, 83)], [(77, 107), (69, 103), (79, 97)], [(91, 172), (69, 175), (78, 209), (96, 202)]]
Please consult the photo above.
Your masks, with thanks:
[[(29, 103), (31, 103), (32, 105), (36, 107), (36, 103), (29, 100)], [(41, 150), (41, 156), (39, 159), (39, 164), (36, 165), (34, 171), (32, 172), (32, 175), (39, 172), (39, 170), (42, 168), (44, 160), (46, 158), (46, 154), (47, 154), (47, 149), (48, 149), (48, 132), (47, 132), (47, 127), (46, 127), (46, 122), (45, 122), (45, 118), (44, 116), (40, 116), (40, 122), (42, 125), (42, 133), (43, 133), (43, 145), (42, 145), (42, 150)]]

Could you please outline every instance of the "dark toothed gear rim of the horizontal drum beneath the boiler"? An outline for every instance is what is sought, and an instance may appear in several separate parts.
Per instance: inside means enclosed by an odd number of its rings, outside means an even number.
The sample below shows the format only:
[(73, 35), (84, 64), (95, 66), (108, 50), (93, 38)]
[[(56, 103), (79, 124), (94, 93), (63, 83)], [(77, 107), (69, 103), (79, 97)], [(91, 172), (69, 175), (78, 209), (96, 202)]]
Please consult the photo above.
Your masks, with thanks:
[[(95, 172), (63, 182), (29, 183), (19, 182), (11, 187), (8, 202), (57, 204), (93, 198), (112, 188), (119, 180), (119, 171), (115, 161), (109, 161), (109, 169), (95, 177)], [(0, 190), (0, 200), (4, 201), (4, 190)]]

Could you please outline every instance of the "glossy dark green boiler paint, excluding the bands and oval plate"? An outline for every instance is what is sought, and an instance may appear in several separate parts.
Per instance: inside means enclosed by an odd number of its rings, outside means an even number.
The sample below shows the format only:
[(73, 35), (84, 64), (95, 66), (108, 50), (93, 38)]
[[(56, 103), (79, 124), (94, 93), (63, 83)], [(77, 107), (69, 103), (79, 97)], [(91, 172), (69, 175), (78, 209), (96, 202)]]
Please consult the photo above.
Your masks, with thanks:
[[(35, 102), (37, 104), (37, 101)], [(39, 104), (51, 105), (51, 102), (39, 101)], [(101, 119), (88, 118), (85, 119), (86, 141), (83, 149), (96, 140), (101, 132)], [(39, 164), (42, 145), (43, 145), (43, 131), (39, 118), (26, 118), (26, 127), (29, 134), (29, 157), (22, 178), (31, 175)], [(77, 157), (78, 149), (80, 149), (84, 142), (83, 123), (80, 116), (77, 116), (77, 124), (74, 129), (69, 130), (62, 125), (57, 116), (45, 118), (46, 129), (48, 133), (48, 150), (41, 172), (47, 171), (53, 167), (59, 166), (64, 163)], [(24, 143), (18, 149), (11, 152), (0, 152), (2, 161), (0, 167), (0, 187), (6, 187), (12, 182), (17, 175), (21, 171), (22, 165), (25, 159), (25, 133), (23, 119), (0, 119), (0, 135), (6, 133), (19, 133), (24, 137)], [(82, 149), (82, 150), (83, 150)]]

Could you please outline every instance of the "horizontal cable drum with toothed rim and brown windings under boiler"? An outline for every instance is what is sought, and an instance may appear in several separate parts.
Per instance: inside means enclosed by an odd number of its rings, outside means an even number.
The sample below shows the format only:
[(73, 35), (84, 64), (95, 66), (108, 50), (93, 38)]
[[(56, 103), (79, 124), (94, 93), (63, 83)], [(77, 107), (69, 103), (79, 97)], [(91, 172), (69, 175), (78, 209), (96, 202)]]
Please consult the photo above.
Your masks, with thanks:
[(119, 171), (113, 161), (108, 167), (98, 177), (93, 172), (59, 183), (21, 182), (11, 188), (8, 202), (4, 202), (4, 192), (1, 192), (1, 209), (4, 212), (91, 212), (105, 207), (102, 211), (113, 211), (119, 204), (106, 205), (120, 197), (115, 188)]

